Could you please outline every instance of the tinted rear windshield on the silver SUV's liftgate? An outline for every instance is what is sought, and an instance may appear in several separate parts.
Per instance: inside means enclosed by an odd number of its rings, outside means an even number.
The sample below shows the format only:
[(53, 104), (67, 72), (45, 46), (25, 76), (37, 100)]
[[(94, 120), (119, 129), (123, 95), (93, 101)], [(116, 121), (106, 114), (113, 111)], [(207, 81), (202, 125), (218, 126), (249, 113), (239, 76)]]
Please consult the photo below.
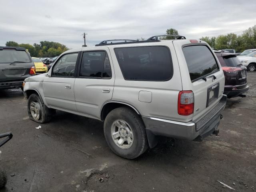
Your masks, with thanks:
[(207, 46), (194, 45), (183, 48), (192, 82), (218, 71), (216, 60)]

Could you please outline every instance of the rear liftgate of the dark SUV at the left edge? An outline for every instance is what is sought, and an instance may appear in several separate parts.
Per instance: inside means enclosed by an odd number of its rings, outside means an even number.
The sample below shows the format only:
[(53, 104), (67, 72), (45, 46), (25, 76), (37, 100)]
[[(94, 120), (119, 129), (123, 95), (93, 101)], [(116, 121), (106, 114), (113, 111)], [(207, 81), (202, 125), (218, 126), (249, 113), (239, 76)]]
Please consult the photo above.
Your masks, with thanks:
[(0, 49), (0, 82), (24, 80), (34, 66), (26, 50)]

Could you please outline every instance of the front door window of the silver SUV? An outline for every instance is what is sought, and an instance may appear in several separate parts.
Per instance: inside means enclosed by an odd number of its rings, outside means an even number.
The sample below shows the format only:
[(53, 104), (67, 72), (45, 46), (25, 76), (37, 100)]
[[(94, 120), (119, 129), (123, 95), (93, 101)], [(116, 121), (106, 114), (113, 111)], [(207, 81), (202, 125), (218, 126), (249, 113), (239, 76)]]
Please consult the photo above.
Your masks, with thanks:
[(71, 53), (62, 56), (54, 65), (53, 76), (74, 76), (78, 53)]

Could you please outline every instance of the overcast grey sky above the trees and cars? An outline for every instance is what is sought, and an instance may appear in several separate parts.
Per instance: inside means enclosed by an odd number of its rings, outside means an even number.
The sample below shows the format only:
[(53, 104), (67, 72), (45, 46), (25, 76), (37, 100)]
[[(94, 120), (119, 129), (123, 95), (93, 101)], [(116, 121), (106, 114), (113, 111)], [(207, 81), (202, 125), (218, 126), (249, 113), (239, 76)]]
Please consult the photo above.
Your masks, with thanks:
[(60, 42), (68, 48), (106, 39), (149, 38), (175, 28), (186, 38), (241, 34), (256, 24), (255, 0), (0, 0), (6, 41)]

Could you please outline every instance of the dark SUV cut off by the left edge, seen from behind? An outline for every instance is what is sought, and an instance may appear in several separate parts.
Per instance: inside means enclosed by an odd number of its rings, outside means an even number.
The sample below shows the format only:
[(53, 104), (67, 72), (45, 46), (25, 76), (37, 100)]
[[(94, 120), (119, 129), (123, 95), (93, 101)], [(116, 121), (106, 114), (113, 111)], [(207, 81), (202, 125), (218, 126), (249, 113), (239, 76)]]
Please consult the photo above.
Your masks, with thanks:
[(25, 48), (0, 46), (0, 89), (22, 88), (24, 79), (34, 74), (36, 68)]

